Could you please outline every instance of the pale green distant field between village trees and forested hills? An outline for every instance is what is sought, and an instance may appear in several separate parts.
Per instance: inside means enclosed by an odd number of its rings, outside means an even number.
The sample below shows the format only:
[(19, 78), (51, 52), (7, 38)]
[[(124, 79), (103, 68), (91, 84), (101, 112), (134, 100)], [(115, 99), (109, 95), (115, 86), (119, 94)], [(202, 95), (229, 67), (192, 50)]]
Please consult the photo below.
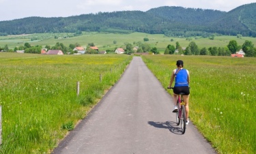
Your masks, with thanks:
[[(65, 46), (79, 43), (81, 46), (85, 47), (88, 43), (93, 42), (96, 44), (96, 46), (98, 46), (99, 50), (113, 50), (117, 47), (126, 48), (126, 43), (136, 46), (134, 42), (143, 42), (143, 38), (147, 37), (149, 38), (149, 41), (143, 43), (150, 44), (152, 47), (158, 48), (158, 51), (163, 53), (168, 44), (175, 46), (175, 43), (179, 42), (180, 46), (186, 47), (190, 43), (190, 41), (186, 40), (186, 38), (167, 37), (162, 34), (147, 33), (114, 34), (83, 32), (83, 35), (76, 37), (68, 37), (69, 35), (72, 35), (72, 33), (35, 33), (29, 35), (0, 36), (0, 46), (3, 48), (5, 44), (7, 44), (9, 48), (14, 49), (14, 47), (24, 46), (24, 44), (28, 42), (33, 46), (40, 45), (45, 47), (46, 45), (54, 46), (57, 42), (59, 42), (63, 43)], [(59, 39), (55, 39), (55, 37), (58, 37)], [(171, 39), (173, 39), (172, 42)], [(256, 38), (254, 37), (242, 37), (242, 39), (239, 39), (236, 36), (216, 36), (214, 40), (202, 37), (197, 37), (197, 39), (190, 37), (190, 39), (192, 39), (192, 41), (195, 42), (199, 48), (209, 48), (213, 46), (224, 47), (229, 44), (230, 40), (236, 40), (240, 46), (244, 44), (245, 40), (249, 40), (253, 42), (253, 44), (256, 44)], [(114, 40), (117, 42), (117, 44), (113, 44)]]

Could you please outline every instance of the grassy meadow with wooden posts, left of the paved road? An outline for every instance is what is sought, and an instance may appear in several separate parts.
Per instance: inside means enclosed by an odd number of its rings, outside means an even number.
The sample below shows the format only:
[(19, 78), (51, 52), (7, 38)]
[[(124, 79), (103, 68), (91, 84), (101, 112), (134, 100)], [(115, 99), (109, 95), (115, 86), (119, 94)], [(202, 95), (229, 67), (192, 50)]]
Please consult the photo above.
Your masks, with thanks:
[(0, 153), (50, 153), (119, 80), (131, 58), (0, 52)]

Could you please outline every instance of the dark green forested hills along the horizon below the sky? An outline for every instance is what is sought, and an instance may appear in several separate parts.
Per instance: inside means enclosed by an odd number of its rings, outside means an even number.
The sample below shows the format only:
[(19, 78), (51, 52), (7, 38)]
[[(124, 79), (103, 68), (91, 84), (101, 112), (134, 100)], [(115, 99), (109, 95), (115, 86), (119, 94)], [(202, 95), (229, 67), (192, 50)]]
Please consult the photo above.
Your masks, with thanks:
[(256, 3), (242, 5), (230, 12), (184, 7), (157, 7), (147, 12), (122, 11), (82, 14), (66, 18), (27, 17), (1, 21), (0, 35), (23, 33), (159, 33), (169, 36), (237, 35), (256, 37)]

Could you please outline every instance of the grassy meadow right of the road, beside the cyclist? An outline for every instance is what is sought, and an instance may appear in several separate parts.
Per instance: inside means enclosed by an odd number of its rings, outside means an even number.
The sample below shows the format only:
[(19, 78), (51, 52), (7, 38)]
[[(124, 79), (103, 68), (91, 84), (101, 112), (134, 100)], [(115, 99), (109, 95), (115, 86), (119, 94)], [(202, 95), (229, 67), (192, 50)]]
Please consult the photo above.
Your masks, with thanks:
[(190, 120), (218, 153), (255, 153), (256, 59), (143, 56), (163, 87), (179, 59), (190, 71)]

